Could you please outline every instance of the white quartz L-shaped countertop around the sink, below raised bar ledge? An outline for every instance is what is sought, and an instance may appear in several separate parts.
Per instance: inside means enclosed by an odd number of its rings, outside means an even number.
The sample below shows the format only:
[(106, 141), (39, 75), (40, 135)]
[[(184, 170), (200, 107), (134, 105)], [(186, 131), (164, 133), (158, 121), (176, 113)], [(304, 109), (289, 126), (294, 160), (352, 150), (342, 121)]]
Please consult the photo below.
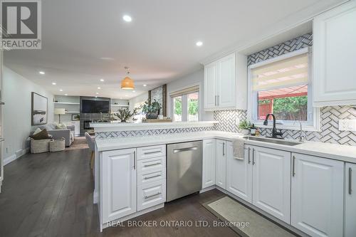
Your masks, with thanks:
[[(236, 137), (244, 137), (244, 135), (233, 132), (206, 131), (176, 133), (170, 135), (152, 135), (147, 137), (117, 137), (108, 139), (96, 139), (96, 147), (98, 149), (98, 152), (103, 152), (112, 149), (147, 147), (157, 144), (189, 142), (211, 138), (232, 141), (236, 139)], [(273, 144), (269, 142), (260, 142), (253, 140), (246, 140), (245, 144), (251, 144), (272, 149), (281, 149), (287, 152), (309, 154), (318, 157), (336, 159), (343, 162), (356, 163), (356, 147), (354, 146), (330, 144), (323, 142), (303, 142), (295, 146), (288, 146), (283, 144)]]

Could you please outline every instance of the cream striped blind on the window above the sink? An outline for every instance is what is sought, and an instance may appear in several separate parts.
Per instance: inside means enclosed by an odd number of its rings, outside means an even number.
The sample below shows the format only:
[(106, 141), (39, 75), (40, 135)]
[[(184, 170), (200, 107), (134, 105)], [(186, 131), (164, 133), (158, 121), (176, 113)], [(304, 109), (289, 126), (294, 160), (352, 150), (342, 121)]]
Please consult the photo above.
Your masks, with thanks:
[(308, 84), (308, 53), (251, 69), (252, 90), (272, 90)]

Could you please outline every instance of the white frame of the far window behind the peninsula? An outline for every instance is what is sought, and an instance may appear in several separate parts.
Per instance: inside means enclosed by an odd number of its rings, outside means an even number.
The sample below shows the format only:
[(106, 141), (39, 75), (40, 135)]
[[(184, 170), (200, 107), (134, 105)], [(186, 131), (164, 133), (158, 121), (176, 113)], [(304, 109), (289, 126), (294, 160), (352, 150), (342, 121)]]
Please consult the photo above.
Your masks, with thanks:
[[(194, 83), (194, 84), (191, 84), (191, 85), (187, 85), (187, 86), (184, 86), (182, 88), (177, 88), (176, 90), (173, 90), (173, 91), (170, 91), (170, 93), (174, 93), (176, 91), (179, 91), (179, 90), (185, 90), (187, 88), (192, 88), (194, 86), (198, 86), (199, 87), (199, 90), (198, 90), (198, 105), (199, 105), (199, 109), (198, 109), (198, 121), (202, 121), (202, 106), (203, 106), (203, 102), (202, 102), (202, 97), (201, 97), (201, 84), (200, 83)], [(190, 93), (188, 93), (190, 94)], [(188, 122), (188, 94), (184, 94), (184, 95), (181, 95), (182, 96), (182, 122)], [(174, 121), (174, 98), (175, 97), (171, 97), (169, 95), (169, 102), (170, 102), (170, 112), (171, 112), (171, 118), (172, 118), (172, 121)], [(174, 121), (175, 122), (175, 121)], [(180, 121), (178, 121), (180, 122)], [(191, 121), (193, 122), (193, 121)], [(196, 122), (196, 121), (194, 121)]]

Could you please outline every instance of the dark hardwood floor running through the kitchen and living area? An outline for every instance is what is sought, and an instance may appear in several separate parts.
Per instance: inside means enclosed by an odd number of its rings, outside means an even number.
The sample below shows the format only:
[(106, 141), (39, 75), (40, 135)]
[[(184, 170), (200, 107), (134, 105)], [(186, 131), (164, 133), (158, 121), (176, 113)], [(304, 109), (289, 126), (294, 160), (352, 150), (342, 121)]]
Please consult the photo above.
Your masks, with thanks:
[[(110, 227), (100, 233), (93, 204), (90, 152), (26, 154), (4, 167), (0, 236), (237, 236), (228, 227)], [(201, 204), (224, 196), (217, 190), (172, 201), (135, 221), (196, 221), (216, 217)]]

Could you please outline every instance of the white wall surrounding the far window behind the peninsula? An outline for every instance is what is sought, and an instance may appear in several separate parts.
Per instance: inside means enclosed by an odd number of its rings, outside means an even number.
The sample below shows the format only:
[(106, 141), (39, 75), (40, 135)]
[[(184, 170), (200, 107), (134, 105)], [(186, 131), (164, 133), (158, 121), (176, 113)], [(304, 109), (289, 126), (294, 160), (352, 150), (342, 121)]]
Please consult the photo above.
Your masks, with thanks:
[(182, 78), (178, 78), (177, 80), (173, 80), (170, 83), (167, 83), (167, 116), (172, 117), (172, 100), (169, 96), (169, 93), (182, 90), (184, 88), (189, 88), (192, 85), (199, 84), (199, 113), (201, 117), (199, 120), (214, 120), (213, 112), (204, 112), (204, 69), (198, 70), (195, 73), (191, 73)]

